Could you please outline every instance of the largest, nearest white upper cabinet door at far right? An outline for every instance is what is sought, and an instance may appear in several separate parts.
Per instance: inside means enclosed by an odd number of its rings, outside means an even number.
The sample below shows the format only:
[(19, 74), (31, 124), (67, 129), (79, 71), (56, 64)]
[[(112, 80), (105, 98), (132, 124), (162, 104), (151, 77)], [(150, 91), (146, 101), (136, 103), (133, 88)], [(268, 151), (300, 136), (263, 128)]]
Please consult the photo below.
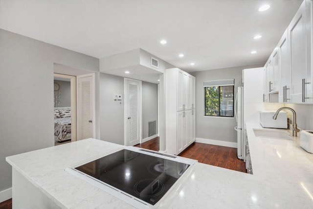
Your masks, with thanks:
[[(306, 5), (309, 4), (309, 5)], [(305, 0), (289, 25), (291, 53), (291, 101), (312, 102), (311, 1)], [(303, 98), (304, 97), (304, 98)]]

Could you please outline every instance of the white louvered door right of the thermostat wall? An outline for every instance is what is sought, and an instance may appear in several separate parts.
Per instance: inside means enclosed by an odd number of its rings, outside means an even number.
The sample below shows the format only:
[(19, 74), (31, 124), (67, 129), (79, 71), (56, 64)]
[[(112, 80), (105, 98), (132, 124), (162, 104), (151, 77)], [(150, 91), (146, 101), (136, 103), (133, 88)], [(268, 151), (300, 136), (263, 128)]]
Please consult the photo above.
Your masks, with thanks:
[(125, 78), (125, 145), (141, 140), (141, 81)]

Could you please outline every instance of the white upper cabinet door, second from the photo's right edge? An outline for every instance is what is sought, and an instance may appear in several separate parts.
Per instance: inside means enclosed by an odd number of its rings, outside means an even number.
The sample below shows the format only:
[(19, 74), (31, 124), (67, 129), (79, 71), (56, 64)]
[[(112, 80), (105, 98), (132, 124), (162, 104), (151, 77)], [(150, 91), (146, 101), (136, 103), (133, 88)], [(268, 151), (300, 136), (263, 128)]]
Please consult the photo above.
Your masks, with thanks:
[(288, 45), (288, 30), (285, 31), (278, 43), (280, 89), (279, 102), (291, 102), (291, 63)]

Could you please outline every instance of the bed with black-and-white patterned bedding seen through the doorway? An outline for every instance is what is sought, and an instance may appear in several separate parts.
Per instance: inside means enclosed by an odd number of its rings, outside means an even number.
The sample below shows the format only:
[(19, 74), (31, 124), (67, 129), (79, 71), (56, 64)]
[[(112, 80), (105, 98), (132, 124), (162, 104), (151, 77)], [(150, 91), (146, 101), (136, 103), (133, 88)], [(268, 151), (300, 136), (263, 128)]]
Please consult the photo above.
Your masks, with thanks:
[(54, 140), (62, 142), (71, 139), (70, 107), (54, 108)]

